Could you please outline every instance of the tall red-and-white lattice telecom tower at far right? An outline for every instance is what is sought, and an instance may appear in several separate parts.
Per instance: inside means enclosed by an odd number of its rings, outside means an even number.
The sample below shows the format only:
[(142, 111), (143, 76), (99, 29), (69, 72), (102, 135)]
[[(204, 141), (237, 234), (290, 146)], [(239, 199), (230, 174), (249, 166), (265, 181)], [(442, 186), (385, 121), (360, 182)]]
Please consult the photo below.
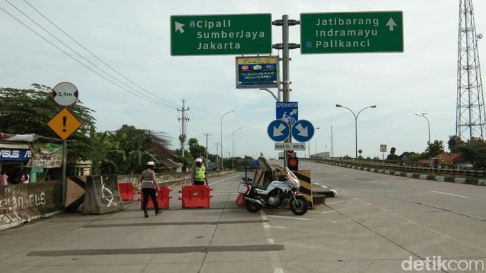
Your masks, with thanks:
[(463, 141), (483, 139), (485, 103), (472, 0), (459, 1), (458, 100), (455, 134)]

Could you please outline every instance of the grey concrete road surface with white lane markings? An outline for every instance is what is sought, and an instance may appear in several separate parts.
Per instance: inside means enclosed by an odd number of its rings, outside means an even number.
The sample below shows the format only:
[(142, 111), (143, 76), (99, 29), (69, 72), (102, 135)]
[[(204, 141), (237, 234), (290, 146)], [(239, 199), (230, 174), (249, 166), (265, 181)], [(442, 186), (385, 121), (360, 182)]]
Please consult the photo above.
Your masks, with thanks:
[(0, 231), (1, 272), (486, 272), (486, 187), (299, 168), (340, 197), (250, 213), (235, 203), (242, 173), (214, 177), (210, 209), (182, 209), (174, 186), (162, 215), (127, 202)]

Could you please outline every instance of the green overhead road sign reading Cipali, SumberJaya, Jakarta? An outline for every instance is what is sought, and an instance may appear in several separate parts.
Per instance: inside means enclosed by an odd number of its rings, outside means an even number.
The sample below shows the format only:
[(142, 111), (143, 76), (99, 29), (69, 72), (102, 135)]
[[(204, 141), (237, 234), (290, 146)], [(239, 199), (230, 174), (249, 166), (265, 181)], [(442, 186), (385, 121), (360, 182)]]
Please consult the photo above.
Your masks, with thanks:
[(171, 55), (271, 53), (271, 14), (172, 15)]

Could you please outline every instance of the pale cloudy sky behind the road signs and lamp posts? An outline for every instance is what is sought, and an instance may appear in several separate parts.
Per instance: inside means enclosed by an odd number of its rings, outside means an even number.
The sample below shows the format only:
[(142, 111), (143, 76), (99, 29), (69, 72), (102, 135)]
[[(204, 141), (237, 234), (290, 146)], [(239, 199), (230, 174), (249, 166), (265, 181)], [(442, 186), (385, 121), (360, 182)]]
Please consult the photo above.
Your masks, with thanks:
[[(221, 116), (234, 110), (222, 122), (225, 157), (233, 150), (233, 136), (238, 139), (237, 156), (257, 157), (262, 152), (276, 157), (278, 151), (267, 134), (276, 118), (274, 98), (267, 91), (235, 88), (235, 55), (171, 56), (171, 15), (270, 13), (272, 20), (282, 15), (299, 20), (301, 12), (403, 11), (403, 53), (301, 55), (299, 49), (290, 51), (290, 101), (299, 103), (299, 119), (320, 128), (310, 140), (311, 153), (330, 151), (332, 126), (334, 156), (354, 156), (355, 120), (349, 110), (335, 107), (337, 103), (355, 113), (377, 105), (358, 118), (358, 149), (364, 157), (381, 158), (380, 144), (388, 150), (395, 147), (399, 155), (423, 152), (427, 121), (414, 113), (428, 113), (432, 141), (444, 141), (447, 147), (449, 136), (455, 134), (458, 3), (3, 0), (0, 85), (26, 89), (32, 83), (54, 87), (72, 82), (79, 99), (95, 111), (98, 131), (128, 124), (165, 132), (171, 148), (180, 146), (177, 109), (185, 100), (190, 109), (187, 137), (206, 145), (204, 134), (210, 134), (211, 153), (221, 142)], [(477, 33), (486, 34), (486, 2), (474, 1), (474, 12)], [(273, 43), (281, 42), (281, 27), (271, 30)], [(299, 44), (299, 33), (299, 26), (290, 27), (290, 42)], [(480, 57), (486, 54), (485, 42), (478, 42)], [(281, 55), (281, 51), (272, 53)]]

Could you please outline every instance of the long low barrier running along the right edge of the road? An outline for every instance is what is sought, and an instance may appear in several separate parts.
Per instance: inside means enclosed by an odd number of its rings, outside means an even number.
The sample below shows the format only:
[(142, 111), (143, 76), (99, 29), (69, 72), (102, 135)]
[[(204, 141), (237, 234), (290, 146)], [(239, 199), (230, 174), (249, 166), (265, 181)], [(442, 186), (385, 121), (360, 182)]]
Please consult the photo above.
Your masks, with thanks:
[(308, 159), (308, 158), (299, 158), (301, 161), (310, 161), (310, 162), (317, 162), (317, 163), (325, 163), (325, 164), (347, 164), (352, 166), (360, 166), (364, 168), (380, 168), (380, 169), (387, 169), (387, 170), (398, 170), (405, 173), (433, 173), (436, 175), (451, 175), (451, 176), (462, 176), (462, 177), (486, 177), (486, 172), (483, 170), (457, 170), (453, 168), (426, 168), (426, 167), (417, 167), (417, 166), (399, 166), (394, 164), (369, 164), (364, 162), (356, 162), (351, 160), (331, 160), (331, 159)]

